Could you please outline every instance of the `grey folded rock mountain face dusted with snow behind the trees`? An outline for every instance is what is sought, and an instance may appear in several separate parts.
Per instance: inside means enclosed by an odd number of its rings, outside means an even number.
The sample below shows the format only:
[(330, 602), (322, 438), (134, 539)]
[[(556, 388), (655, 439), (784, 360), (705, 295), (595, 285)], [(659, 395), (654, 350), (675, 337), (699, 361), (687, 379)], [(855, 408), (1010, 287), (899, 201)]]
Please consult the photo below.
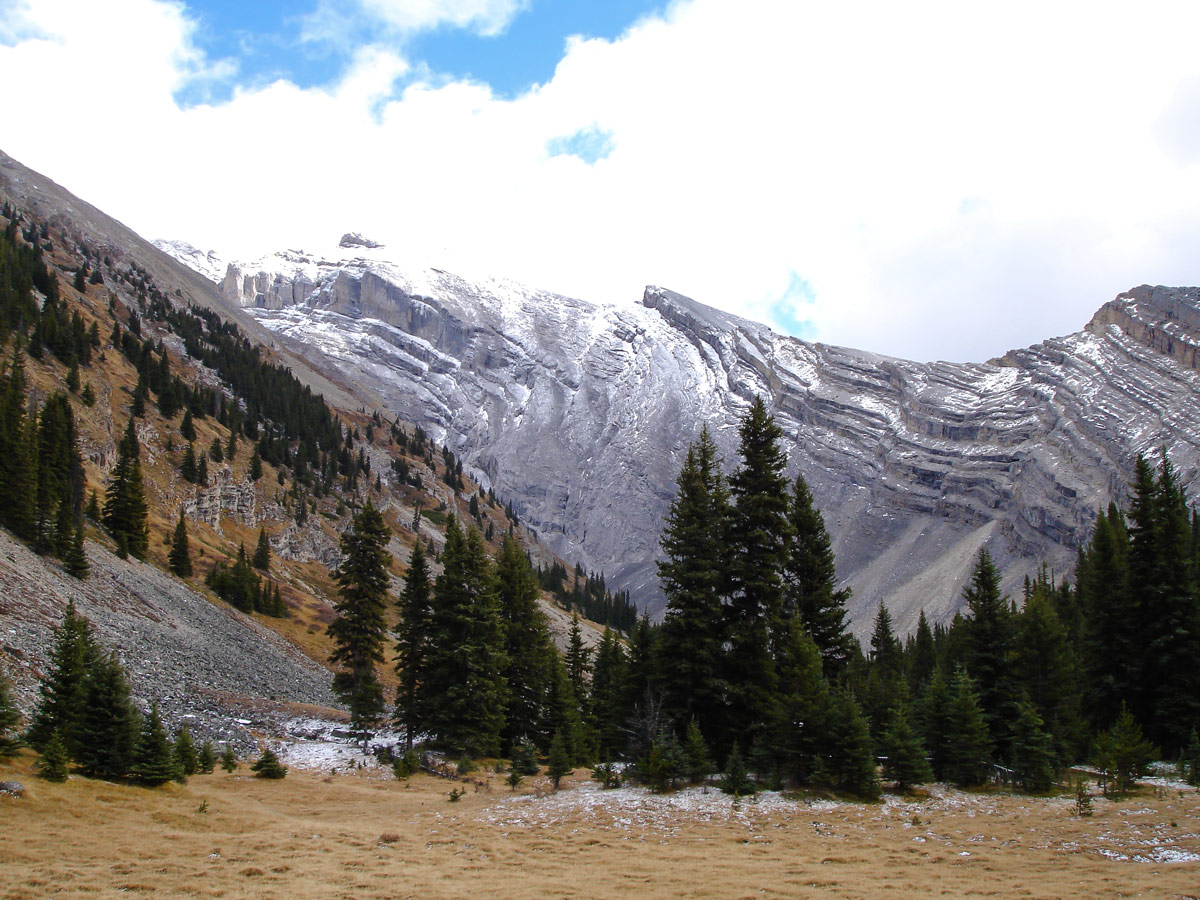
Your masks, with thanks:
[(881, 600), (900, 629), (922, 607), (952, 616), (983, 546), (1010, 590), (1043, 559), (1068, 571), (1138, 452), (1166, 445), (1198, 479), (1196, 290), (1138, 288), (1085, 331), (990, 364), (919, 364), (780, 336), (661, 288), (605, 307), (404, 269), (368, 241), (340, 252), (230, 264), (221, 292), (370, 385), (559, 553), (652, 611), (688, 444), (707, 424), (732, 466), (756, 394), (824, 510), (860, 631)]

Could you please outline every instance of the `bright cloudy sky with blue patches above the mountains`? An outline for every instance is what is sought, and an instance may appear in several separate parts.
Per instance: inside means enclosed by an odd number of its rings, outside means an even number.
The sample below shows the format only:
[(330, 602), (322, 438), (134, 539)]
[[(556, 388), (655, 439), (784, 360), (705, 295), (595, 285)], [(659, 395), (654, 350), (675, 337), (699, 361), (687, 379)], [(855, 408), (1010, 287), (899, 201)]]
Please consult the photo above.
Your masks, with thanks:
[(0, 0), (0, 150), (228, 258), (346, 232), (982, 361), (1200, 283), (1200, 4)]

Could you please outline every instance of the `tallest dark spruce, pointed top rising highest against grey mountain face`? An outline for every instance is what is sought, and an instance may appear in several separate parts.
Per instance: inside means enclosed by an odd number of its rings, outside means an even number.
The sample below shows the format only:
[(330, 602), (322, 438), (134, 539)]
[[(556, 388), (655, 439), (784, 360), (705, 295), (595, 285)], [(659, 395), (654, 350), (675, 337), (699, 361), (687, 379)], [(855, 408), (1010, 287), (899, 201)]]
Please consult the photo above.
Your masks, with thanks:
[(726, 682), (731, 737), (755, 738), (770, 718), (776, 689), (775, 650), (785, 629), (782, 569), (787, 521), (782, 431), (762, 397), (742, 420), (742, 467), (730, 479), (732, 566), (726, 606)]

